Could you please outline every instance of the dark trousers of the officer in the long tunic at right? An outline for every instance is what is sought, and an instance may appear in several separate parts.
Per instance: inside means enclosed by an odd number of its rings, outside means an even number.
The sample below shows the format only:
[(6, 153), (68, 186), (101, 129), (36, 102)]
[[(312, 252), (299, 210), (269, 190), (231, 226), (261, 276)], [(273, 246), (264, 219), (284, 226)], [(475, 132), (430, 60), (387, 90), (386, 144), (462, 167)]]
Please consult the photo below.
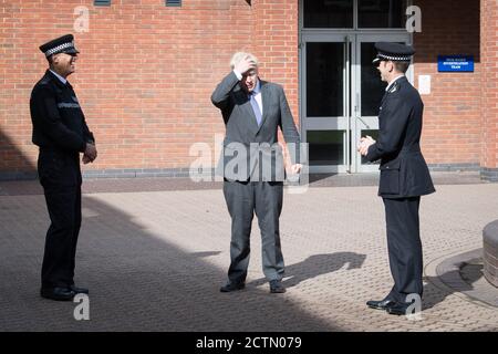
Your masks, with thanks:
[(423, 293), (423, 259), (418, 207), (421, 197), (383, 198), (387, 226), (387, 249), (394, 287), (386, 299), (406, 302), (408, 294)]

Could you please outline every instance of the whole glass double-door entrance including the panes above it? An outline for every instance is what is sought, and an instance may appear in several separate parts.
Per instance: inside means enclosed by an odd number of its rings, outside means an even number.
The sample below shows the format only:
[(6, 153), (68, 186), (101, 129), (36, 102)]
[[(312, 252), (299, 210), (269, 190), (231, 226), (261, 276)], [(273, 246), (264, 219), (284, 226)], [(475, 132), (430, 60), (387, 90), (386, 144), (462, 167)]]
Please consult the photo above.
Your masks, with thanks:
[[(377, 41), (409, 43), (409, 0), (300, 0), (300, 116), (311, 173), (377, 170), (360, 138), (378, 134), (386, 83), (372, 65)], [(408, 79), (412, 73), (408, 72)]]

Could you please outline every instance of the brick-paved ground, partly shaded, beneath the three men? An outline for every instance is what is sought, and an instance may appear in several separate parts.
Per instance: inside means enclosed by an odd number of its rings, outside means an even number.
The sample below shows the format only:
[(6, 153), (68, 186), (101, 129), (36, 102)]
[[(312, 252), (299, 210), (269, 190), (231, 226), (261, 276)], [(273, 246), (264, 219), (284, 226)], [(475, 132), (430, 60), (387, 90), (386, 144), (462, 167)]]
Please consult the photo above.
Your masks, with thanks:
[(498, 218), (498, 185), (440, 180), (421, 205), (419, 321), (365, 306), (392, 284), (373, 186), (288, 189), (281, 216), (288, 292), (268, 292), (255, 218), (247, 288), (227, 294), (219, 287), (230, 220), (219, 184), (174, 190), (160, 179), (86, 181), (76, 283), (91, 289), (91, 320), (75, 321), (75, 303), (39, 296), (49, 225), (39, 187), (0, 183), (0, 331), (497, 331), (498, 308), (448, 288), (436, 268), (483, 246), (483, 228)]

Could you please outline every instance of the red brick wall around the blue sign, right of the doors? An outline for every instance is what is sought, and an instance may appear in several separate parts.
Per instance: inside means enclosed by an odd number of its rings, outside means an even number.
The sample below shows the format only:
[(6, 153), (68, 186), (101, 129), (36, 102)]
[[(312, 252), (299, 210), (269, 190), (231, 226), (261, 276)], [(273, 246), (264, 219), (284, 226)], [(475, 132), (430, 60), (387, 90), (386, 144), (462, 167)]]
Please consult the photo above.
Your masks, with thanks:
[[(479, 164), (481, 154), (481, 63), (478, 0), (416, 0), (422, 33), (415, 33), (415, 84), (432, 75), (423, 95), (423, 150), (432, 164)], [(474, 54), (474, 73), (438, 73), (437, 55)]]

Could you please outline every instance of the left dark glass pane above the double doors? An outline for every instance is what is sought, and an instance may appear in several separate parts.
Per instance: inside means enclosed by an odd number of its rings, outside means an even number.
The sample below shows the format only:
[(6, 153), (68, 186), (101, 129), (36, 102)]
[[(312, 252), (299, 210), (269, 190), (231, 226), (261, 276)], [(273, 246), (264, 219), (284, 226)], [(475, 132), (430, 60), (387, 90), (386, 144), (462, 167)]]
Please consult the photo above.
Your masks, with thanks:
[(353, 0), (304, 0), (304, 28), (353, 28)]

